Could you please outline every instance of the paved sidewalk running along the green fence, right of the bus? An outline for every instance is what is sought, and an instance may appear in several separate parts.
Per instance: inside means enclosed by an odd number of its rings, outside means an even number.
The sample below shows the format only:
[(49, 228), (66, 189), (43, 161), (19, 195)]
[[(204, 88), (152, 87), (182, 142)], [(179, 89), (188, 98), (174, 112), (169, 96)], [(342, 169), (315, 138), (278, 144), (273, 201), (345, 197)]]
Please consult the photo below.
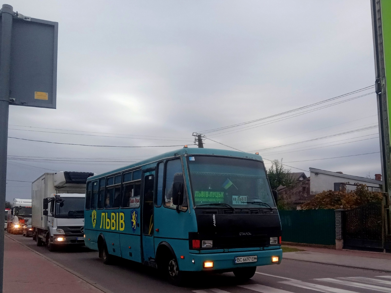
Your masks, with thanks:
[[(284, 245), (285, 246), (285, 245)], [(391, 254), (358, 250), (333, 250), (326, 248), (294, 247), (305, 251), (285, 252), (283, 259), (334, 264), (353, 268), (364, 268), (391, 272)]]

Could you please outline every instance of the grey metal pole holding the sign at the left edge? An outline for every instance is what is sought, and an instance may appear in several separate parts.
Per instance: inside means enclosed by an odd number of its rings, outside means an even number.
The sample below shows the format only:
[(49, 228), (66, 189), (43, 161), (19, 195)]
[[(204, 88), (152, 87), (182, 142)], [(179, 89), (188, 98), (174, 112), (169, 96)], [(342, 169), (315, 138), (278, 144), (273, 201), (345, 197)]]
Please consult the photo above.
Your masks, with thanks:
[[(1, 11), (2, 29), (0, 48), (0, 207), (2, 211), (5, 209), (5, 184), (7, 183), (9, 74), (13, 14), (13, 7), (4, 4)], [(0, 292), (3, 292), (4, 230), (0, 230)]]

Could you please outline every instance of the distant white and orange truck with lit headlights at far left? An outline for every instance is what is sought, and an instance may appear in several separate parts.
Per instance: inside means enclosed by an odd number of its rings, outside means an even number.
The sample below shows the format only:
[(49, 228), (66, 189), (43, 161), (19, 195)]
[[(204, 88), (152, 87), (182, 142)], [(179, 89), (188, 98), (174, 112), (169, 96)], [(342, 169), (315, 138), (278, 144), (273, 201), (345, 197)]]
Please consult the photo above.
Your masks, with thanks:
[(19, 234), (23, 232), (23, 225), (31, 219), (31, 200), (14, 198), (12, 208), (7, 214), (7, 232)]

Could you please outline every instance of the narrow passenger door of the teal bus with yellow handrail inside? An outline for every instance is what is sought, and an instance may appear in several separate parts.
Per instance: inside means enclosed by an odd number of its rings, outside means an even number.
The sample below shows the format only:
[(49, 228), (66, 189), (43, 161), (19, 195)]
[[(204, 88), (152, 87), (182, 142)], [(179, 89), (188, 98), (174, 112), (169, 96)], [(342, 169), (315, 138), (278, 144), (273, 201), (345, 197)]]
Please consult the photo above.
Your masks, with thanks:
[(153, 198), (155, 191), (155, 171), (143, 173), (142, 206), (142, 256), (144, 264), (156, 266), (154, 248)]

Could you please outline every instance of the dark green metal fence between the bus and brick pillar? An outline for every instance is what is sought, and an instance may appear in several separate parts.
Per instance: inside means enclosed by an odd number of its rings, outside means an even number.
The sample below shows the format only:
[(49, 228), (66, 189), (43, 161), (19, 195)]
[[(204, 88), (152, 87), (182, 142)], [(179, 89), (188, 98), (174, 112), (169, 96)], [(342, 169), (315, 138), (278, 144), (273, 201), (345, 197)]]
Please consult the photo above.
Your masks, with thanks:
[(278, 211), (282, 241), (335, 245), (334, 209)]

